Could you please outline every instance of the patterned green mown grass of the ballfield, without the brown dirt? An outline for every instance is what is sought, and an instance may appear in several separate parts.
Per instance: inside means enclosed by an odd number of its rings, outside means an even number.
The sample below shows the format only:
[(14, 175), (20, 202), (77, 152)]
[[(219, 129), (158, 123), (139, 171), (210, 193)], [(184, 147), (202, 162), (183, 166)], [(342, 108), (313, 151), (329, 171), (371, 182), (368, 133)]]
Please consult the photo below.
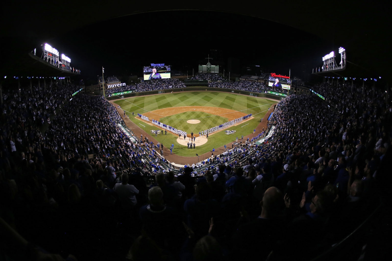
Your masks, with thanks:
[[(229, 144), (236, 140), (236, 137), (241, 138), (241, 135), (249, 135), (253, 133), (253, 130), (260, 123), (260, 118), (264, 117), (268, 108), (276, 103), (275, 101), (268, 99), (261, 99), (253, 96), (246, 95), (238, 95), (231, 94), (227, 92), (177, 92), (177, 93), (169, 93), (169, 94), (157, 94), (157, 95), (149, 95), (149, 96), (138, 96), (131, 97), (123, 100), (115, 101), (116, 104), (119, 104), (121, 108), (127, 111), (127, 114), (130, 115), (129, 119), (131, 119), (137, 126), (140, 126), (144, 131), (150, 133), (151, 130), (158, 129), (157, 127), (152, 127), (146, 125), (145, 122), (140, 121), (138, 118), (131, 117), (132, 112), (135, 115), (137, 113), (143, 114), (149, 111), (158, 110), (162, 108), (171, 108), (178, 106), (211, 106), (211, 107), (219, 107), (219, 108), (227, 108), (231, 110), (241, 111), (245, 114), (252, 113), (255, 117), (249, 121), (243, 122), (238, 126), (232, 126), (225, 130), (235, 130), (236, 133), (227, 135), (225, 131), (220, 131), (218, 133), (214, 133), (209, 135), (209, 140), (206, 144), (196, 147), (196, 149), (188, 149), (186, 146), (181, 146), (176, 142), (178, 135), (174, 135), (171, 133), (167, 133), (167, 135), (158, 135), (154, 137), (159, 142), (163, 143), (163, 146), (169, 147), (171, 144), (174, 144), (173, 153), (176, 153), (185, 157), (193, 157), (196, 156), (196, 153), (199, 155), (209, 152), (212, 148), (219, 148), (224, 144)], [(204, 116), (203, 116), (204, 115)], [(211, 116), (211, 117), (206, 117)], [(203, 118), (204, 117), (204, 118)], [(221, 123), (227, 122), (227, 118), (211, 115), (209, 113), (203, 112), (187, 112), (187, 113), (179, 113), (176, 115), (171, 115), (170, 117), (161, 118), (161, 122), (171, 125), (174, 128), (186, 130), (186, 128), (190, 128), (192, 131), (196, 128), (201, 128), (199, 124), (184, 124), (186, 122), (182, 119), (195, 119), (198, 118), (203, 124), (214, 124), (213, 126), (219, 125)], [(168, 120), (166, 122), (166, 120)], [(177, 126), (176, 121), (178, 122)], [(200, 124), (201, 124), (200, 122)], [(143, 124), (143, 127), (141, 124)], [(188, 126), (189, 125), (189, 126)], [(196, 127), (198, 125), (198, 127)], [(213, 127), (210, 126), (210, 127)], [(210, 128), (209, 127), (209, 128)], [(188, 134), (191, 131), (187, 131)], [(194, 133), (199, 133), (200, 130), (193, 131)], [(151, 133), (151, 135), (153, 135)], [(230, 144), (231, 145), (231, 144)], [(200, 158), (202, 160), (202, 158)]]

